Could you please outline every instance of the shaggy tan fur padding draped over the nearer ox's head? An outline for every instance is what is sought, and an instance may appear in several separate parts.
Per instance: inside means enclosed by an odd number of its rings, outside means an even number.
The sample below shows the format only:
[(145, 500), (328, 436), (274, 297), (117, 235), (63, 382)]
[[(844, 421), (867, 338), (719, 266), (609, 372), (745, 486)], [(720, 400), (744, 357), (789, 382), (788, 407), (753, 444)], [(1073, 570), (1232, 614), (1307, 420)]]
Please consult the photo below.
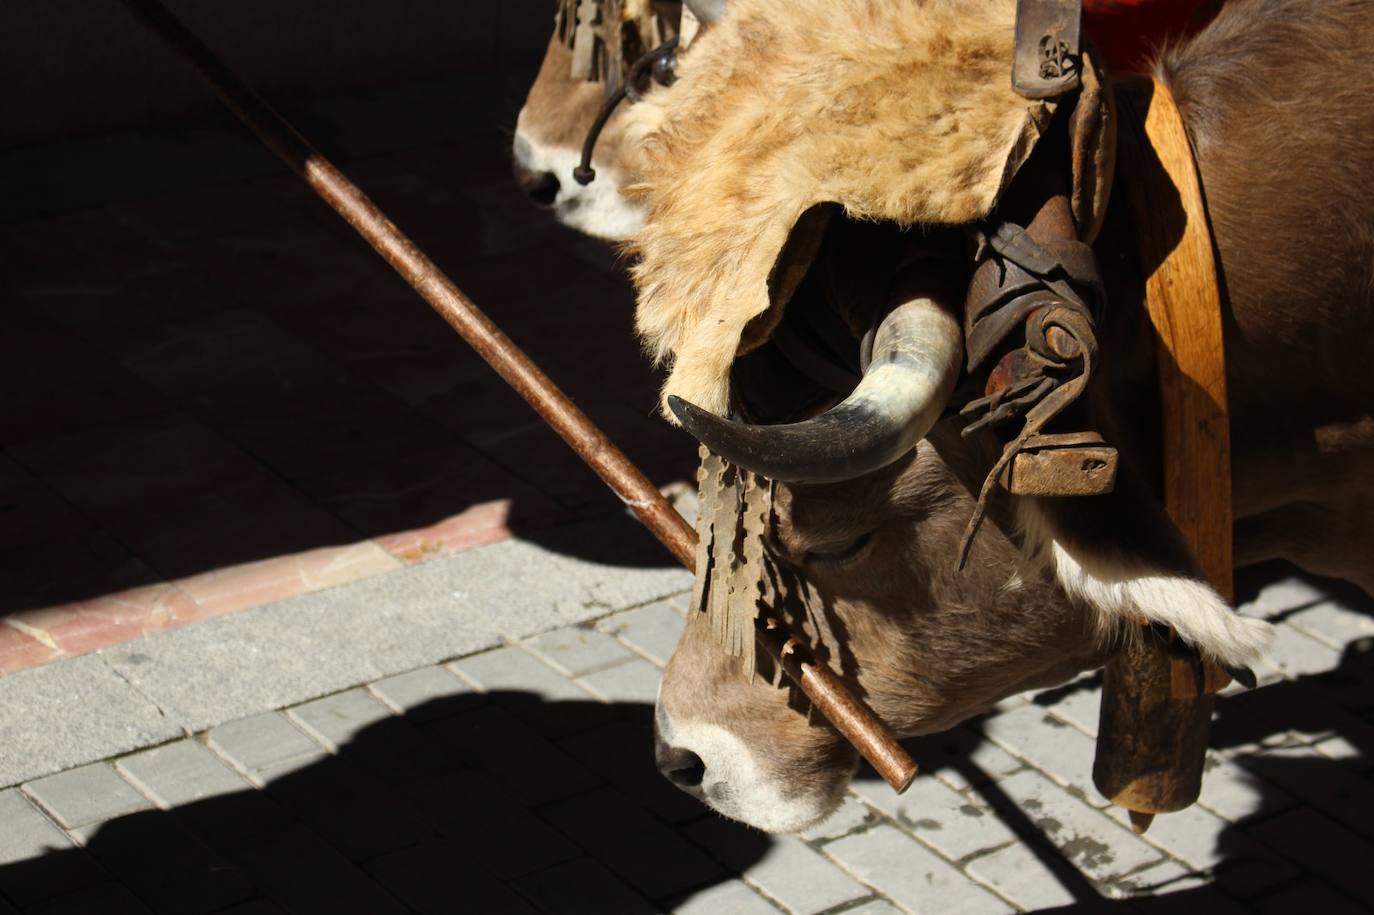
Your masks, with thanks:
[(1052, 114), (1011, 89), (1014, 22), (1014, 0), (732, 0), (697, 37), (677, 82), (629, 114), (644, 158), (628, 192), (649, 213), (638, 326), (672, 361), (665, 397), (725, 411), (741, 335), (812, 205), (987, 216)]

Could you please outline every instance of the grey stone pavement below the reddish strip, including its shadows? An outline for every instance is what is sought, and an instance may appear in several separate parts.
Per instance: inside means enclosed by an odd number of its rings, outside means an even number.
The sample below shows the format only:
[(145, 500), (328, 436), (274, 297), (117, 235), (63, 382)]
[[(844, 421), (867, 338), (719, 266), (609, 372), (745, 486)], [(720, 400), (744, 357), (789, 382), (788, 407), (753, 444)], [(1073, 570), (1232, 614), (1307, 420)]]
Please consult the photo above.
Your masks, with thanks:
[[(686, 576), (647, 567), (653, 544), (628, 522), (606, 523), (574, 533), (618, 537), (627, 556), (638, 543), (646, 567), (495, 544), (383, 576), (367, 595), (326, 591), (0, 679), (0, 708), (60, 716), (48, 730), (67, 731), (62, 771), (29, 771), (0, 791), (0, 912), (1374, 904), (1374, 621), (1344, 589), (1272, 570), (1246, 585), (1246, 611), (1279, 624), (1265, 686), (1221, 699), (1201, 802), (1143, 838), (1090, 782), (1091, 676), (914, 741), (925, 768), (905, 795), (863, 773), (830, 822), (778, 838), (709, 813), (655, 773), (651, 709)], [(495, 594), (471, 599), (514, 566), (533, 588), (523, 615)], [(378, 620), (403, 625), (403, 606), (426, 618), (425, 594), (470, 617), (466, 647), (437, 642), (427, 650), (440, 662), (411, 653), (390, 668), (385, 651), (335, 651), (365, 625), (376, 650)], [(335, 670), (272, 673), (282, 658), (271, 646), (294, 650), (290, 629), (312, 625), (300, 606), (311, 600), (328, 607), (333, 631), (313, 659)], [(419, 635), (392, 629), (397, 643)], [(146, 712), (161, 727), (140, 723)], [(126, 752), (73, 756), (111, 746), (111, 732)], [(0, 756), (0, 772), (14, 782), (44, 753), (30, 738), (23, 758)]]

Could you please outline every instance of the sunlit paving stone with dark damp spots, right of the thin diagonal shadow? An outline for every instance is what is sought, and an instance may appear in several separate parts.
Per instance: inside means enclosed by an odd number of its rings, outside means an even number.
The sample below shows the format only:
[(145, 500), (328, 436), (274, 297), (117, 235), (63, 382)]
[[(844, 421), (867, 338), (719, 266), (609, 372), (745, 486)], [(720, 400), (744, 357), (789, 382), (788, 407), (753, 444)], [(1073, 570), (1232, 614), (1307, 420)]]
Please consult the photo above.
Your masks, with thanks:
[(1158, 850), (1040, 772), (1017, 772), (998, 782), (998, 789), (1095, 881), (1120, 877), (1160, 859)]

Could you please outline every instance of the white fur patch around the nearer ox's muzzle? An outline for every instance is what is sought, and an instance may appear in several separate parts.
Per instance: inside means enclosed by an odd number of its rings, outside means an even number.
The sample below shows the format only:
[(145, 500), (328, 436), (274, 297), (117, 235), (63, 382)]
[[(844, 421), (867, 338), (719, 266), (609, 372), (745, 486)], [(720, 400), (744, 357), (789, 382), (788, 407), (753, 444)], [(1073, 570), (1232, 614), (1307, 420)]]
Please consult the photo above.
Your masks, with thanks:
[(706, 767), (702, 800), (717, 813), (765, 833), (800, 833), (840, 805), (844, 782), (833, 797), (785, 797), (743, 741), (725, 728), (703, 721), (675, 724), (662, 705), (655, 712), (658, 736), (701, 757)]

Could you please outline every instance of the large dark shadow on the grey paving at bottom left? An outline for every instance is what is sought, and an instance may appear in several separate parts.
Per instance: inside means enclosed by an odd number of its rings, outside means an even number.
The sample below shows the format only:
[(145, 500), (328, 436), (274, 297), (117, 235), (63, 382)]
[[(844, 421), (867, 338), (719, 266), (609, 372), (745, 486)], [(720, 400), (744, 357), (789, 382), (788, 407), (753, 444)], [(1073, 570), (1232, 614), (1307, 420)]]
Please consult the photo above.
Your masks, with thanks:
[[(85, 849), (0, 867), (0, 894), (100, 915), (662, 911), (730, 874), (676, 831), (717, 817), (654, 769), (651, 720), (528, 692), (431, 701), (265, 772), (264, 790), (122, 816)], [(771, 844), (728, 835), (712, 850), (735, 867)]]

